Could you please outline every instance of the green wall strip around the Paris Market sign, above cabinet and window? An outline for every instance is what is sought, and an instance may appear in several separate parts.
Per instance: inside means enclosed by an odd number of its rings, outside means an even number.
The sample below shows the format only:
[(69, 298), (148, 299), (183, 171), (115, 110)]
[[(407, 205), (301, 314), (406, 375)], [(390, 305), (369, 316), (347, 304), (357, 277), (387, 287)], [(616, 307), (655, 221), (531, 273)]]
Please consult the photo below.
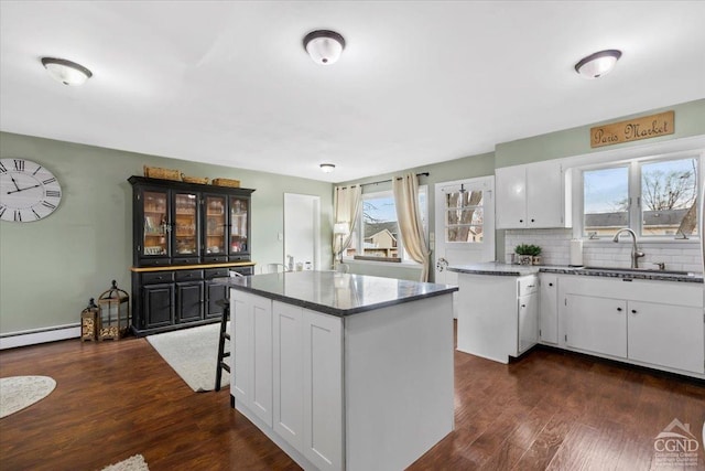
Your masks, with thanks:
[[(653, 139), (625, 142), (615, 146), (590, 148), (590, 128), (609, 122), (621, 121), (641, 116), (650, 116), (662, 111), (675, 111), (675, 132)], [(688, 101), (664, 108), (650, 109), (636, 115), (622, 116), (601, 122), (593, 122), (577, 128), (565, 129), (547, 135), (534, 136), (511, 142), (498, 143), (495, 147), (497, 168), (560, 159), (572, 156), (584, 156), (633, 146), (644, 146), (664, 140), (705, 135), (705, 99)]]

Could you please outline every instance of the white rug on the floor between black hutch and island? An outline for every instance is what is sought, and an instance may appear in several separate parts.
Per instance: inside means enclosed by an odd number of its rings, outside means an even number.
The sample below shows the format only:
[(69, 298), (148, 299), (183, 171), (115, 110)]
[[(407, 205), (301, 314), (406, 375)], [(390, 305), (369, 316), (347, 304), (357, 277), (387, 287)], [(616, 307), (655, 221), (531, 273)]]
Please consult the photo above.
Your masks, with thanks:
[[(147, 341), (193, 390), (203, 393), (215, 389), (219, 333), (220, 323), (216, 322), (149, 335)], [(229, 341), (226, 340), (225, 345), (227, 352), (230, 347)], [(220, 387), (227, 387), (229, 384), (230, 375), (223, 371)]]

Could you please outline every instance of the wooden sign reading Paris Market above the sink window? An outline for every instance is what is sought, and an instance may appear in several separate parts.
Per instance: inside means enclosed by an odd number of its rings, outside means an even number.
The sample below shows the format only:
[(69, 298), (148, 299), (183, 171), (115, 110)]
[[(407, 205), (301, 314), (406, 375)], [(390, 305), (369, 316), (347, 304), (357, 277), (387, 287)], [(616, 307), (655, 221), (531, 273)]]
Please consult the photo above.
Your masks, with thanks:
[(665, 111), (590, 128), (590, 147), (611, 146), (672, 135), (674, 113)]

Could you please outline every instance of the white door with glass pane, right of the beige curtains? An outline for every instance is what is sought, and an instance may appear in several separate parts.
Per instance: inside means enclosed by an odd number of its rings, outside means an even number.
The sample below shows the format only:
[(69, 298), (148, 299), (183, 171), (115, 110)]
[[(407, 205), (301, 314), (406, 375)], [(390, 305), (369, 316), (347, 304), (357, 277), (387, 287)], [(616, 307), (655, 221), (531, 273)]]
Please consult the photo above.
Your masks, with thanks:
[(448, 265), (495, 259), (494, 191), (494, 176), (436, 183), (435, 282), (457, 286)]

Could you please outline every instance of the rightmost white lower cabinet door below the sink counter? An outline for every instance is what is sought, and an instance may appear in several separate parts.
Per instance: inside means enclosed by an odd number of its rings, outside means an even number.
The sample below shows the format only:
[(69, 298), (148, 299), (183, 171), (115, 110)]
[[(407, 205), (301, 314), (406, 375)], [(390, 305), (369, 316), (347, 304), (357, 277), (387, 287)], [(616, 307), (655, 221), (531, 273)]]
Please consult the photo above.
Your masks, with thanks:
[(628, 309), (630, 360), (704, 372), (701, 308), (629, 301)]

